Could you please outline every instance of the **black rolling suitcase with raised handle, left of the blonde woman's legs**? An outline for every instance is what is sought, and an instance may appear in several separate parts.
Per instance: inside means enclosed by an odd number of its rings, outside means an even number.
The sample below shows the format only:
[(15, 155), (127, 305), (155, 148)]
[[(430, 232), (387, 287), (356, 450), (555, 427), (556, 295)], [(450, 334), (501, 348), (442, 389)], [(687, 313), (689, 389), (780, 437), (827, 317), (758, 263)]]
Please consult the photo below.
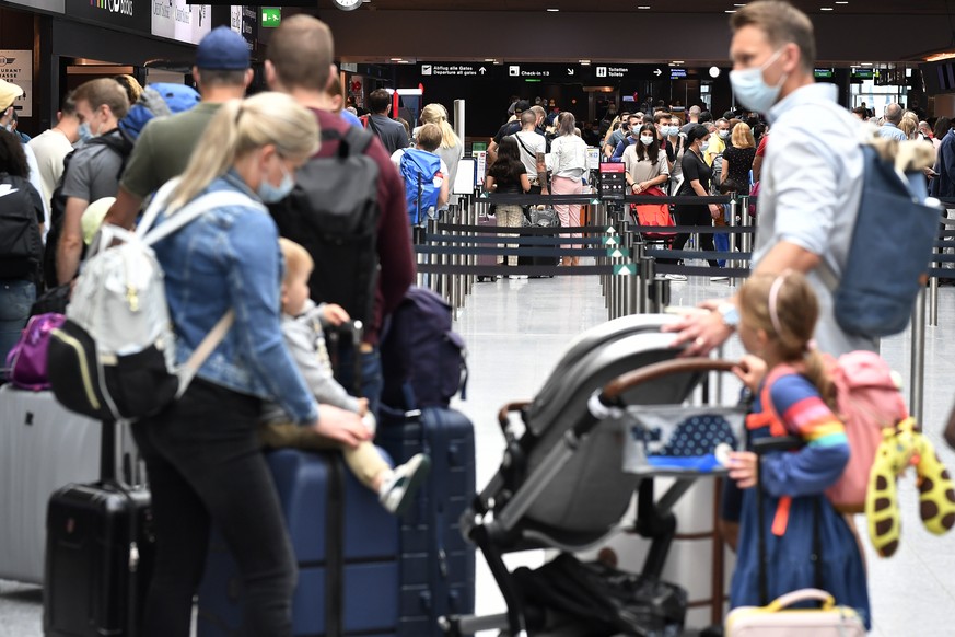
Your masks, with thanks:
[(101, 479), (54, 491), (47, 509), (46, 637), (135, 637), (152, 576), (150, 495), (116, 479), (116, 425), (103, 424)]

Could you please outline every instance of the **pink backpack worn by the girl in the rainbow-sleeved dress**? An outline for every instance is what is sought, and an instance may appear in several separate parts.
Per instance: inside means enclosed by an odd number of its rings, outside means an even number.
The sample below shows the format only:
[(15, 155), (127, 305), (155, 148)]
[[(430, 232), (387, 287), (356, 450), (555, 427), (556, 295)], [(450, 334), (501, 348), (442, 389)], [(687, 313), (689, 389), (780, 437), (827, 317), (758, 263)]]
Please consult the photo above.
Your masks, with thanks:
[[(829, 362), (836, 387), (837, 416), (846, 425), (850, 455), (842, 477), (826, 490), (826, 496), (839, 511), (861, 513), (865, 509), (869, 474), (883, 439), (882, 430), (907, 418), (908, 408), (899, 391), (898, 375), (874, 351), (850, 351)], [(772, 409), (769, 387), (788, 373), (800, 372), (782, 364), (773, 368), (766, 379), (762, 408), (772, 412), (773, 418), (779, 416)]]

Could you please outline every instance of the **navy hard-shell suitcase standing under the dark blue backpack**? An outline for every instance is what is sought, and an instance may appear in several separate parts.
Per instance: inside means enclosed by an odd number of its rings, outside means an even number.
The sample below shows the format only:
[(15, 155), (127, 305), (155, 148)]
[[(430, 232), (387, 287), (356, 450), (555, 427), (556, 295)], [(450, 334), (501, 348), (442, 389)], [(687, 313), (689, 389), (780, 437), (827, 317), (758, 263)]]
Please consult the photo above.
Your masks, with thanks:
[(383, 415), (376, 442), (403, 463), (431, 458), (431, 472), (401, 519), (399, 637), (439, 637), (442, 615), (469, 614), (475, 603), (475, 552), (459, 519), (475, 495), (474, 426), (464, 414), (426, 407)]

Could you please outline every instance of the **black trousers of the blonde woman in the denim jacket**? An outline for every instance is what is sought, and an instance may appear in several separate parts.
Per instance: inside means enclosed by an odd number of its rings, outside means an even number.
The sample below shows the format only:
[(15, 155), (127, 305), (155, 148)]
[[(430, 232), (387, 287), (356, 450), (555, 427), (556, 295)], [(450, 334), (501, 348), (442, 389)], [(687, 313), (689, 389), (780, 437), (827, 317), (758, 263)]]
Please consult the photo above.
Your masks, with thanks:
[(133, 425), (156, 536), (142, 635), (189, 637), (214, 523), (242, 578), (242, 635), (291, 636), (296, 570), (256, 431), (259, 408), (258, 398), (196, 379), (179, 401)]

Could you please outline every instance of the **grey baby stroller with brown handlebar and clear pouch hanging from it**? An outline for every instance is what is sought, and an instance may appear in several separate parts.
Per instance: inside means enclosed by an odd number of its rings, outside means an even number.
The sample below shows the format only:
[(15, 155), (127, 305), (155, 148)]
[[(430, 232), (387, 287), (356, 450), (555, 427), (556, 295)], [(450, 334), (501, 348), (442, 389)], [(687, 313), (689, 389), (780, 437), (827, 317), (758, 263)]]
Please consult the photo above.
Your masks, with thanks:
[[(707, 439), (706, 449), (692, 454), (680, 456), (672, 449), (674, 433), (696, 417), (679, 417), (683, 410), (691, 410), (684, 403), (691, 395), (697, 402), (709, 402), (703, 382), (709, 372), (732, 368), (720, 360), (677, 359), (679, 350), (672, 347), (674, 335), (660, 331), (675, 320), (631, 315), (582, 334), (532, 403), (512, 403), (501, 409), (504, 459), (462, 517), (462, 531), (485, 556), (508, 612), (488, 617), (444, 617), (446, 634), (470, 635), (485, 629), (502, 629), (513, 636), (575, 637), (679, 633), (683, 616), (678, 595), (672, 590), (676, 587), (662, 588), (655, 582), (676, 528), (671, 508), (697, 477), (720, 471), (714, 460), (717, 443), (742, 445), (744, 412), (735, 405), (708, 407), (719, 412), (720, 418), (732, 416), (734, 425), (724, 424), (717, 436)], [(515, 413), (524, 424), (520, 433), (512, 419)], [(627, 439), (634, 444), (625, 445)], [(630, 449), (628, 471), (624, 471), (625, 448)], [(654, 502), (656, 475), (677, 479)], [(643, 579), (631, 579), (628, 586), (649, 591), (651, 603), (667, 600), (663, 605), (667, 605), (669, 617), (659, 632), (639, 632), (632, 624), (629, 628), (628, 624), (617, 624), (613, 632), (583, 628), (573, 617), (540, 607), (519, 581), (524, 578), (516, 578), (504, 565), (502, 556), (508, 553), (529, 548), (574, 553), (595, 545), (620, 530), (620, 519), (634, 491), (639, 493), (637, 530), (652, 544), (639, 576)], [(626, 579), (619, 571), (608, 576)], [(633, 609), (621, 611), (632, 614)], [(682, 611), (686, 612), (685, 593)]]

